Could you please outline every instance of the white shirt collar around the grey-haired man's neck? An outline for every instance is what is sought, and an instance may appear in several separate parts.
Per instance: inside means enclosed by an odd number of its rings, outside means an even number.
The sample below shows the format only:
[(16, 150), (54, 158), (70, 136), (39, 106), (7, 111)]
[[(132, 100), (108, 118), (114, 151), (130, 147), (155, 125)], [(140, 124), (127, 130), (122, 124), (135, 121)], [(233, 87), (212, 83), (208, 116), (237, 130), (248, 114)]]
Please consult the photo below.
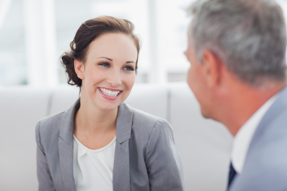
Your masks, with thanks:
[(234, 170), (240, 174), (242, 172), (247, 151), (251, 139), (259, 125), (261, 119), (277, 99), (277, 94), (268, 99), (238, 130), (234, 139), (231, 150), (231, 162)]

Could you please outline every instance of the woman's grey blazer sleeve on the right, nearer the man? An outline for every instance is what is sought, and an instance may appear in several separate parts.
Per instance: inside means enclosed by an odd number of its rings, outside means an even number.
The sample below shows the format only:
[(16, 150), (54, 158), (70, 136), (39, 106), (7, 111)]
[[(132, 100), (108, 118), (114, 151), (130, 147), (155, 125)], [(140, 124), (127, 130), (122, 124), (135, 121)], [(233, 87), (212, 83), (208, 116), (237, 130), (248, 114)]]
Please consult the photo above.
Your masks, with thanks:
[(159, 120), (152, 129), (145, 161), (151, 191), (183, 190), (182, 164), (166, 120)]

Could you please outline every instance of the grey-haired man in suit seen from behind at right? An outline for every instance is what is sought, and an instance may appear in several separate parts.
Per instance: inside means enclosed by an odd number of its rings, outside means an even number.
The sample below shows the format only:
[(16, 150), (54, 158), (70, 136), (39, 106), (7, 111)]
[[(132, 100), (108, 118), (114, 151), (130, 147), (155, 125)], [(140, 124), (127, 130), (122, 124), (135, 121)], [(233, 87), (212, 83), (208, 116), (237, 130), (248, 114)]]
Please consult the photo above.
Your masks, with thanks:
[(234, 135), (228, 190), (287, 190), (286, 26), (273, 0), (199, 0), (185, 52), (206, 118)]

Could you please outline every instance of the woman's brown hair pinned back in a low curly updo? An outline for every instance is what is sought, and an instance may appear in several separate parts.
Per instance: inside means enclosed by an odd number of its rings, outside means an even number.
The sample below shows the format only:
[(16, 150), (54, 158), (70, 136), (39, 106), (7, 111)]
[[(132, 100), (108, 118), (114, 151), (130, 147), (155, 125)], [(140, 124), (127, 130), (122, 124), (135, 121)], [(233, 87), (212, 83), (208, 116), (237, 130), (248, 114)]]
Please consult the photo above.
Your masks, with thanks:
[[(71, 51), (65, 52), (61, 56), (61, 64), (66, 68), (68, 74), (68, 84), (82, 86), (82, 79), (78, 78), (75, 72), (74, 60), (85, 62), (90, 43), (103, 34), (122, 33), (130, 36), (135, 42), (138, 60), (140, 42), (133, 30), (134, 25), (131, 21), (110, 16), (101, 16), (82, 23), (75, 34), (74, 40), (70, 43)], [(137, 60), (135, 62), (135, 72), (137, 71)]]

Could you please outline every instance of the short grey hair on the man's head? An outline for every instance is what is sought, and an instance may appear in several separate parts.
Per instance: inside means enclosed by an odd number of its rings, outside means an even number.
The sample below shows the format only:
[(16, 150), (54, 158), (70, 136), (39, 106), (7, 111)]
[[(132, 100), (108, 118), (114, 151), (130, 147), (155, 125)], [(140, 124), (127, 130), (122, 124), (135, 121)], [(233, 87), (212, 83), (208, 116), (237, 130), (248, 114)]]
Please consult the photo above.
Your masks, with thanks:
[(210, 50), (253, 86), (286, 81), (286, 26), (273, 0), (198, 0), (187, 9), (191, 42), (201, 62)]

